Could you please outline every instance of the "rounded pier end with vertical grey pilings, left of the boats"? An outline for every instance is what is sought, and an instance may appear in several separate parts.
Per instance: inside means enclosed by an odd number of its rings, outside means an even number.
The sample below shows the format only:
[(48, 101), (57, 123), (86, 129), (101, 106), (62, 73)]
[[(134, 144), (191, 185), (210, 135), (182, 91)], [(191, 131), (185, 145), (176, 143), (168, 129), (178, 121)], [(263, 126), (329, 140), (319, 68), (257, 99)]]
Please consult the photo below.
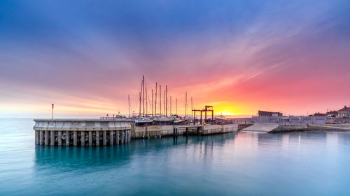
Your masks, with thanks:
[(106, 146), (131, 141), (129, 120), (34, 119), (36, 145)]

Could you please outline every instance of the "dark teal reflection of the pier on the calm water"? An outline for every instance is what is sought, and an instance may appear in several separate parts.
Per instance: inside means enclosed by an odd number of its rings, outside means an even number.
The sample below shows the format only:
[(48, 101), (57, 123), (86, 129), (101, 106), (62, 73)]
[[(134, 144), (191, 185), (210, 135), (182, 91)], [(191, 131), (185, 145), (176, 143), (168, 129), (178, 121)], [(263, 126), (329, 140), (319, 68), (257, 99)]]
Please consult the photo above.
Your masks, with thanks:
[[(162, 139), (133, 140), (129, 144), (118, 146), (35, 146), (34, 163), (36, 169), (55, 167), (56, 169), (82, 169), (115, 165), (116, 167), (130, 163), (133, 158), (167, 151), (174, 153), (174, 148), (181, 153), (190, 153), (200, 158), (212, 158), (214, 145), (224, 146), (226, 140), (232, 141), (237, 133), (211, 136), (180, 136), (177, 138), (163, 137)], [(186, 146), (192, 146), (187, 148)], [(209, 157), (207, 157), (209, 156)]]

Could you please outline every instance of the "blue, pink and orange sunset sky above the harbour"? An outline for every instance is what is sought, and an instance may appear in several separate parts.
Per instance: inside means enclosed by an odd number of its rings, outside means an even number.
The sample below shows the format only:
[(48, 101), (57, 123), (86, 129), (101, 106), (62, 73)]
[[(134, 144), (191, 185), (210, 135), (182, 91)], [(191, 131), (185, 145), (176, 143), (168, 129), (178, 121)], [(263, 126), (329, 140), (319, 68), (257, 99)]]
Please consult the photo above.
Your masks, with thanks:
[[(350, 1), (0, 1), (0, 117), (306, 115), (350, 105)], [(151, 105), (151, 104), (149, 104)], [(148, 106), (149, 106), (148, 105)], [(170, 105), (170, 103), (169, 103)], [(159, 108), (159, 105), (158, 105)], [(148, 109), (151, 111), (151, 108)], [(169, 110), (169, 109), (168, 109)], [(159, 113), (159, 110), (158, 110)]]

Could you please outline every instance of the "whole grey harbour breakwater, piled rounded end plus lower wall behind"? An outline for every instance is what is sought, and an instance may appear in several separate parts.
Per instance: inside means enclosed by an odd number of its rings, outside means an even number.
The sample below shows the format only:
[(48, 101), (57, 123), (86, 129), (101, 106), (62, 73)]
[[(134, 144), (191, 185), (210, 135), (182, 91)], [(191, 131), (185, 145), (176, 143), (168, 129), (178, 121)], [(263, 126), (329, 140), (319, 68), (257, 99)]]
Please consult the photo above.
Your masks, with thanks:
[(237, 124), (135, 126), (131, 120), (34, 119), (35, 144), (50, 146), (106, 146), (132, 139), (237, 132)]

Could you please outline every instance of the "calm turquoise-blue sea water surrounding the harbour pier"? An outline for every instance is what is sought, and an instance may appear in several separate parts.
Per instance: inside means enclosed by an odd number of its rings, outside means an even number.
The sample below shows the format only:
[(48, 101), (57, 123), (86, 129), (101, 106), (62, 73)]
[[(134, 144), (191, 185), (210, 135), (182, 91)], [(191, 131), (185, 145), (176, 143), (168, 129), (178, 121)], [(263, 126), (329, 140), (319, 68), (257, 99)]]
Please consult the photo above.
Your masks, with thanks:
[(350, 134), (230, 133), (124, 146), (35, 146), (0, 119), (0, 195), (350, 195)]

